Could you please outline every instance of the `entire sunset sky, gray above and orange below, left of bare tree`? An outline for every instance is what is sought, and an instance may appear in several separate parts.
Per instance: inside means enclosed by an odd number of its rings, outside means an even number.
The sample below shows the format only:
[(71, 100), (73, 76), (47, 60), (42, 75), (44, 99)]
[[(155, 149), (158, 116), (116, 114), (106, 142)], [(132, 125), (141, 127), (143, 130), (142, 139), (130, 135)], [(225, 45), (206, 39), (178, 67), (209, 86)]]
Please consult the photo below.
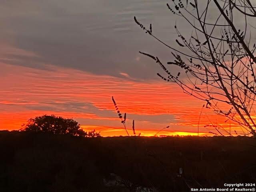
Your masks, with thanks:
[[(0, 130), (18, 130), (29, 118), (55, 114), (74, 118), (102, 136), (126, 135), (127, 127), (154, 135), (210, 135), (204, 127), (239, 127), (202, 108), (202, 101), (163, 82), (151, 52), (171, 60), (170, 50), (135, 24), (152, 23), (156, 34), (175, 42), (176, 20), (164, 0), (4, 0), (0, 4)], [(180, 29), (186, 25), (180, 21)], [(130, 133), (132, 131), (130, 130)]]

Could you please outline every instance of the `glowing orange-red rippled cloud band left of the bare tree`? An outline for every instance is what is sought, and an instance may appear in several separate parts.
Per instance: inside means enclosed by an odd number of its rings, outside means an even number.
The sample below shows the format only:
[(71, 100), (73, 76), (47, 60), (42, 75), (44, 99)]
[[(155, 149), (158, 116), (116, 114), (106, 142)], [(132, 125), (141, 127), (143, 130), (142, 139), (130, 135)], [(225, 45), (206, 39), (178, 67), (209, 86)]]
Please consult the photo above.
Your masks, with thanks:
[[(136, 126), (144, 135), (167, 125), (171, 125), (170, 131), (197, 132), (204, 102), (184, 94), (175, 84), (161, 80), (140, 82), (54, 66), (39, 70), (0, 63), (0, 67), (4, 72), (0, 77), (4, 82), (0, 85), (1, 129), (18, 129), (29, 118), (43, 114), (84, 119), (83, 126), (99, 126), (98, 121), (101, 127), (118, 127), (120, 122), (111, 100), (114, 96), (121, 112), (128, 114), (129, 121), (132, 120), (129, 114), (138, 116)], [(86, 103), (92, 106), (83, 105)], [(162, 118), (162, 123), (140, 121), (139, 118), (145, 115), (161, 118), (163, 114), (175, 118), (170, 122)], [(229, 128), (225, 120), (203, 109), (200, 132), (208, 132), (204, 126), (213, 123)], [(232, 124), (232, 130), (235, 128), (238, 127)]]

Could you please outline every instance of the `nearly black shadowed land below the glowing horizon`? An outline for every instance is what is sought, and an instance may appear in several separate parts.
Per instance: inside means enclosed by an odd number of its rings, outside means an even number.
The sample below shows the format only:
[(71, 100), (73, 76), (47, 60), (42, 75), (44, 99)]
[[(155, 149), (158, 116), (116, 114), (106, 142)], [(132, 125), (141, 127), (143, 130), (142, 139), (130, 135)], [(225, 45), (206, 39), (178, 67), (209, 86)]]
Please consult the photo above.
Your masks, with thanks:
[[(0, 191), (129, 192), (256, 183), (256, 139), (0, 131)], [(182, 176), (177, 176), (179, 168)]]

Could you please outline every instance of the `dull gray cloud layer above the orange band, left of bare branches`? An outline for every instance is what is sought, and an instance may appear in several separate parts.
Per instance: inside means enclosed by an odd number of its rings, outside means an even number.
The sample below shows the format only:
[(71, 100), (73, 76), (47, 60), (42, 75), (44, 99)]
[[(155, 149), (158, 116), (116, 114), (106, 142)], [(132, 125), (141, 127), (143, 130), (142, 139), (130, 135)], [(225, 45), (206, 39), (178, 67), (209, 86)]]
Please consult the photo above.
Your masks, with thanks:
[[(217, 15), (213, 13), (211, 8), (212, 19)], [(134, 16), (144, 25), (152, 23), (154, 34), (176, 48), (175, 23), (185, 35), (192, 31), (186, 21), (170, 13), (164, 0), (3, 1), (0, 39), (39, 57), (7, 55), (12, 60), (1, 60), (34, 68), (53, 64), (94, 74), (125, 72), (142, 80), (156, 78), (161, 69), (138, 51), (159, 56), (163, 62), (173, 57), (135, 24)]]

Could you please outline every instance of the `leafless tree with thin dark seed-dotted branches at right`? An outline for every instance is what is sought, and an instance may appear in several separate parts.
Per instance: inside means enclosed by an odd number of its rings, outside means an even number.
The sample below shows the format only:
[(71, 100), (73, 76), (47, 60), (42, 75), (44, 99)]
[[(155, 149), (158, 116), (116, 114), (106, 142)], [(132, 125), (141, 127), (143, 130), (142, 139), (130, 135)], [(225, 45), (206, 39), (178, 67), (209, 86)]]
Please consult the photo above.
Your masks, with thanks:
[[(167, 8), (185, 19), (192, 30), (190, 36), (185, 36), (177, 25), (174, 26), (180, 49), (156, 37), (151, 24), (147, 29), (136, 17), (134, 20), (147, 34), (172, 50), (174, 61), (167, 64), (172, 69), (180, 68), (180, 72), (173, 74), (158, 57), (140, 53), (160, 65), (165, 72), (165, 75), (157, 74), (160, 78), (174, 82), (184, 93), (204, 100), (206, 108), (226, 117), (226, 121), (230, 119), (238, 123), (245, 135), (256, 136), (256, 46), (251, 45), (251, 33), (248, 32), (254, 29), (248, 19), (256, 17), (255, 7), (250, 0), (172, 2), (173, 5), (167, 4)], [(244, 18), (242, 30), (234, 15)]]

